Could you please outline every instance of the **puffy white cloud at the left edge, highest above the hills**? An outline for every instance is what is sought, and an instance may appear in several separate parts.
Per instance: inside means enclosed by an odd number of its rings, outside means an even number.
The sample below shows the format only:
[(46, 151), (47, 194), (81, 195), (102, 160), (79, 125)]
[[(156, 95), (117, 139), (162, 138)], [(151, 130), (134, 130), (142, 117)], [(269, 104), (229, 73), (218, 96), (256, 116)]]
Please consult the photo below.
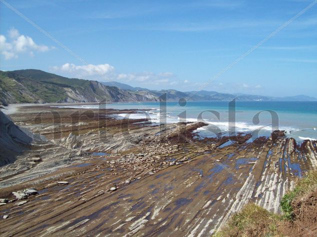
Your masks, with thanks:
[(50, 50), (49, 46), (35, 43), (30, 36), (20, 34), (15, 28), (9, 30), (8, 36), (10, 41), (5, 35), (0, 34), (0, 54), (4, 55), (6, 60), (18, 58), (19, 54), (22, 53), (34, 56), (34, 51), (46, 52)]

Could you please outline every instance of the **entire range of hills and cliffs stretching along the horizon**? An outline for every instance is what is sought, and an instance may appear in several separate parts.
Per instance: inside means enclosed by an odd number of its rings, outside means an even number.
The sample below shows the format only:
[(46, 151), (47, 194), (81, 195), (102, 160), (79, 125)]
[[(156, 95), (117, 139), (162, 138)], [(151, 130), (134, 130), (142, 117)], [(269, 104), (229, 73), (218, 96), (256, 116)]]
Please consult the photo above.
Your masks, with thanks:
[(296, 95), (270, 97), (250, 94), (229, 94), (216, 91), (149, 90), (112, 81), (99, 82), (68, 78), (37, 69), (0, 71), (0, 104), (45, 102), (119, 102), (159, 101), (166, 93), (167, 100), (237, 100), (246, 101), (317, 101), (316, 98)]

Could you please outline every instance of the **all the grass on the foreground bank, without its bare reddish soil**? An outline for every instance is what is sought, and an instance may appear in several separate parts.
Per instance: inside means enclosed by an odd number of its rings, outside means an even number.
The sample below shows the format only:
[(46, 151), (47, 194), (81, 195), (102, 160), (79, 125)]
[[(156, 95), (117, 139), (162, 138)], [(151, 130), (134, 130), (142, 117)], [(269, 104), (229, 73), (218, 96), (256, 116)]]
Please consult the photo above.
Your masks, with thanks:
[(298, 178), (293, 190), (288, 191), (280, 202), (283, 215), (276, 215), (253, 203), (247, 204), (240, 212), (233, 214), (227, 224), (214, 236), (281, 236), (278, 225), (293, 221), (292, 204), (317, 189), (317, 171)]

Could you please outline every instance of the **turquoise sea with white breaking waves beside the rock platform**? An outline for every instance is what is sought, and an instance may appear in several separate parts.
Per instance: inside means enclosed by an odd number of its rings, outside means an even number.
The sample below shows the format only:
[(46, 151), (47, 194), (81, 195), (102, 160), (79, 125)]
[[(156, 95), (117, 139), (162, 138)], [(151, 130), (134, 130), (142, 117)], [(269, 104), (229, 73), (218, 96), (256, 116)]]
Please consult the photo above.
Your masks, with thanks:
[(213, 137), (238, 133), (269, 136), (275, 129), (297, 142), (317, 140), (317, 101), (167, 101), (118, 102), (105, 104), (67, 105), (72, 108), (137, 109), (133, 113), (118, 113), (117, 118), (149, 118), (153, 124), (179, 121), (203, 121), (194, 131), (198, 137)]

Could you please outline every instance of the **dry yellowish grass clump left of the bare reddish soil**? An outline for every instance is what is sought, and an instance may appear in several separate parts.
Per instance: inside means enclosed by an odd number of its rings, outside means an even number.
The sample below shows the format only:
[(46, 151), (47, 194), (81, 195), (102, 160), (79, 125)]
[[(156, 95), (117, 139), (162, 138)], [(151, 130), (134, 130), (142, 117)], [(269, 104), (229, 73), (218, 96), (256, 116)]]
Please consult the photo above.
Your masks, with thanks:
[(274, 236), (278, 235), (277, 223), (280, 216), (249, 203), (233, 214), (228, 223), (214, 236)]

